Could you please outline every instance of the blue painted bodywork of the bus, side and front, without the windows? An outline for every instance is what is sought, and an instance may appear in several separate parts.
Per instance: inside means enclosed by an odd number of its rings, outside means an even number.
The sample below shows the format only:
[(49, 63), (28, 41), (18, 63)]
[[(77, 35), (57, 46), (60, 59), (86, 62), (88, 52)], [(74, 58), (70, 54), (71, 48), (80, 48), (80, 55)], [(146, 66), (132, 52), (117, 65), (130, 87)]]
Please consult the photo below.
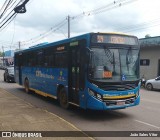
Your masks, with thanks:
[[(91, 45), (91, 35), (92, 33), (81, 35), (78, 37), (74, 37), (71, 39), (66, 39), (62, 41), (58, 41), (55, 43), (49, 43), (45, 45), (40, 45), (37, 47), (29, 48), (24, 51), (16, 52), (15, 55), (18, 55), (21, 53), (25, 54), (28, 52), (32, 51), (37, 51), (37, 50), (42, 50), (42, 49), (47, 49), (51, 48), (56, 48), (57, 46), (63, 47), (67, 46), (68, 49), (66, 50), (67, 53), (69, 54), (69, 51), (72, 50), (71, 43), (76, 42), (81, 42), (81, 40), (85, 40), (86, 44), (83, 46), (84, 48), (88, 48), (90, 50), (90, 45)], [(81, 46), (82, 47), (82, 46)], [(72, 52), (72, 51), (71, 51)], [(71, 56), (68, 56), (69, 58)], [(84, 57), (83, 54), (81, 54), (81, 57)], [(21, 58), (21, 57), (20, 57)], [(19, 58), (19, 59), (20, 59)], [(18, 58), (15, 57), (15, 62)], [(77, 59), (77, 57), (75, 57)], [(57, 98), (57, 90), (58, 86), (61, 85), (65, 88), (67, 91), (67, 96), (71, 95), (71, 92), (73, 91), (71, 88), (71, 81), (70, 78), (72, 76), (72, 66), (70, 68), (58, 68), (58, 67), (40, 67), (40, 66), (21, 66), (21, 62), (18, 66), (15, 65), (15, 77), (16, 77), (16, 82), (19, 83), (20, 85), (24, 85), (24, 81), (27, 78), (29, 80), (29, 88), (31, 90), (34, 90), (35, 92), (39, 92), (43, 96), (49, 96), (49, 97), (55, 97)], [(68, 61), (68, 65), (69, 65)], [(78, 87), (77, 89), (77, 95), (78, 95), (78, 102), (76, 102), (76, 105), (83, 109), (94, 109), (94, 110), (114, 110), (114, 109), (123, 109), (126, 107), (131, 107), (138, 105), (140, 103), (140, 95), (139, 95), (139, 89), (140, 89), (140, 84), (137, 85), (135, 88), (132, 90), (124, 90), (124, 91), (107, 91), (99, 88), (92, 82), (88, 80), (88, 65), (84, 64), (85, 68), (85, 83), (84, 83), (84, 89), (81, 87)], [(73, 78), (73, 77), (72, 77)], [(78, 85), (79, 86), (79, 85)], [(90, 91), (94, 91), (95, 93), (90, 93)], [(75, 94), (74, 93), (74, 94)], [(92, 95), (91, 95), (92, 94)], [(96, 97), (93, 95), (96, 94)], [(129, 99), (130, 94), (134, 94), (134, 102), (130, 104), (121, 104), (121, 105), (107, 105), (105, 95), (109, 95), (110, 98), (113, 98), (114, 100), (117, 101), (123, 101), (125, 102), (125, 99), (122, 99), (123, 97), (126, 97)], [(98, 96), (101, 96), (102, 99), (99, 99)], [(132, 95), (131, 95), (132, 96)], [(104, 98), (103, 98), (104, 97)], [(69, 98), (69, 97), (68, 97)], [(73, 98), (73, 93), (72, 93), (72, 98)], [(109, 97), (107, 97), (109, 98)], [(118, 99), (119, 98), (119, 99)], [(109, 101), (112, 101), (113, 99), (109, 99)], [(70, 103), (73, 103), (72, 100), (69, 100)]]

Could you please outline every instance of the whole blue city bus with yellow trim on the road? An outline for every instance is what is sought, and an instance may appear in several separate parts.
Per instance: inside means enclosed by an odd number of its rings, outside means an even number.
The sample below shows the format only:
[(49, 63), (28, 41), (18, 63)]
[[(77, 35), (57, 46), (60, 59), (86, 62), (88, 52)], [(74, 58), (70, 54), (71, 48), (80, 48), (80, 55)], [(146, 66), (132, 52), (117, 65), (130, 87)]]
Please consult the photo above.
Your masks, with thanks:
[(114, 110), (140, 103), (135, 36), (88, 33), (15, 52), (15, 81), (45, 97), (83, 109)]

